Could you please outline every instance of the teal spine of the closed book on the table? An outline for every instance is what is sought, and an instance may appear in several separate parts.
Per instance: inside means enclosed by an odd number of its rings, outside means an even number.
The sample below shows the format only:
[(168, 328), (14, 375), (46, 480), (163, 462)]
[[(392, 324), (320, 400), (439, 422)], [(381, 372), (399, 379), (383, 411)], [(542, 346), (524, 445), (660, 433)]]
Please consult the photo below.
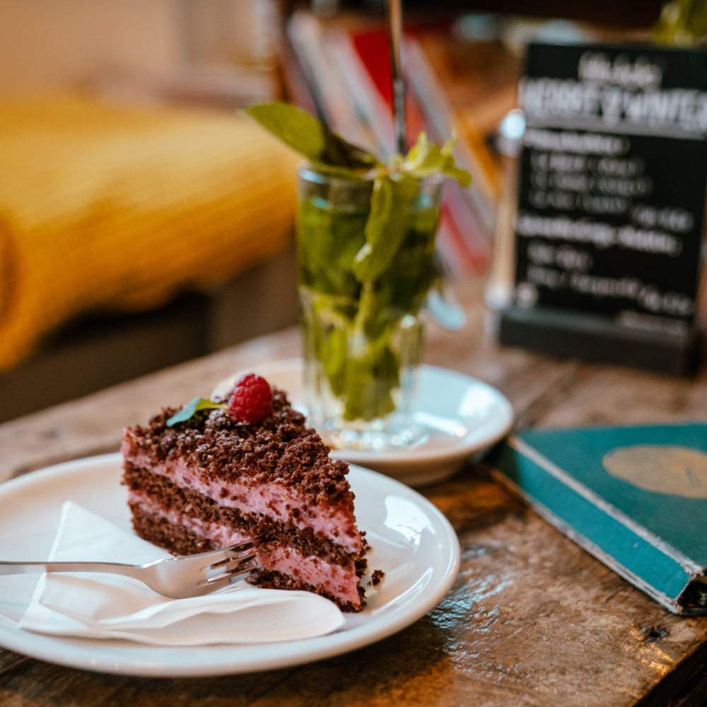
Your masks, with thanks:
[(549, 462), (539, 463), (544, 457), (525, 455), (513, 448), (514, 443), (519, 444), (519, 440), (511, 438), (498, 450), (492, 469), (495, 479), (671, 612), (707, 613), (707, 607), (687, 606), (682, 601), (686, 590), (699, 582), (699, 568), (690, 566), (664, 544), (654, 542), (648, 532), (640, 532), (634, 524), (607, 513), (607, 508), (577, 488), (574, 479), (573, 484), (568, 484), (550, 468)]

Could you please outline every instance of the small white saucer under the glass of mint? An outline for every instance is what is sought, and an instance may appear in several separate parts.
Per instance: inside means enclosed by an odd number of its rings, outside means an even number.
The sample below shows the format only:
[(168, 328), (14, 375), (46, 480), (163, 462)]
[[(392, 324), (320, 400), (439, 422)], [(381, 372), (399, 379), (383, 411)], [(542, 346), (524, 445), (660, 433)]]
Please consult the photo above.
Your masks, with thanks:
[[(285, 390), (293, 406), (306, 414), (301, 358), (238, 371), (222, 380), (211, 395), (227, 395), (238, 378), (251, 370)], [(464, 460), (483, 454), (513, 426), (513, 408), (496, 388), (438, 366), (421, 366), (413, 411), (426, 431), (422, 443), (383, 452), (332, 450), (332, 457), (375, 469), (410, 486), (423, 486), (451, 476)]]

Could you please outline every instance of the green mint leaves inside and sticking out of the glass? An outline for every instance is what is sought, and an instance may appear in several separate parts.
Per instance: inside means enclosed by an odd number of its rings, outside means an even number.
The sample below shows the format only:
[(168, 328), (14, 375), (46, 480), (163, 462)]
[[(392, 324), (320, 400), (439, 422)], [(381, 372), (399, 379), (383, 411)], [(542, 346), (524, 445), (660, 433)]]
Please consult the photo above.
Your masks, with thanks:
[[(310, 160), (313, 171), (341, 180), (329, 183), (326, 203), (298, 205), (299, 291), (310, 312), (303, 344), (344, 402), (344, 419), (385, 416), (400, 385), (400, 322), (419, 312), (436, 278), (439, 211), (421, 194), (421, 180), (471, 182), (455, 163), (454, 137), (440, 148), (421, 133), (407, 155), (383, 163), (296, 106), (276, 101), (245, 112)], [(339, 199), (337, 188), (350, 191), (341, 182), (353, 180), (372, 187), (370, 201), (366, 191), (360, 202), (348, 193)], [(418, 336), (413, 344), (421, 351), (421, 329), (405, 336)]]

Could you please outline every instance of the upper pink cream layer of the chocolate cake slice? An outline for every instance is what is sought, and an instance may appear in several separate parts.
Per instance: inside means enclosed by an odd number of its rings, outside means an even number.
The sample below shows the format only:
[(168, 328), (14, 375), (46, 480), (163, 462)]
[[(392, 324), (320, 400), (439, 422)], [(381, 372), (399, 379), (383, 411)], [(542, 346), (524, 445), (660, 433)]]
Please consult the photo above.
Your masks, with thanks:
[(155, 474), (171, 479), (177, 486), (203, 493), (222, 506), (237, 508), (244, 513), (262, 513), (273, 520), (288, 520), (292, 510), (298, 510), (298, 518), (292, 518), (300, 527), (311, 527), (321, 531), (349, 552), (361, 551), (361, 534), (351, 525), (347, 513), (337, 508), (308, 507), (303, 501), (291, 496), (291, 490), (277, 481), (268, 484), (249, 484), (249, 479), (237, 479), (231, 484), (221, 481), (209, 481), (194, 474), (186, 464), (165, 462), (155, 464), (147, 454), (129, 454), (127, 440), (122, 445), (123, 456), (137, 467), (146, 467)]

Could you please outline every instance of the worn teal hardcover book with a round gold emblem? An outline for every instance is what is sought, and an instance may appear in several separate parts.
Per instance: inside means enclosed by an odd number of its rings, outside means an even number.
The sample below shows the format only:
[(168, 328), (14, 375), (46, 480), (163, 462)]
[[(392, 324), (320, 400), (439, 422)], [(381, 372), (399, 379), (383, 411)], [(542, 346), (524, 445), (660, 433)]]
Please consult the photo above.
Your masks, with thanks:
[(528, 430), (493, 477), (676, 614), (707, 614), (707, 423)]

